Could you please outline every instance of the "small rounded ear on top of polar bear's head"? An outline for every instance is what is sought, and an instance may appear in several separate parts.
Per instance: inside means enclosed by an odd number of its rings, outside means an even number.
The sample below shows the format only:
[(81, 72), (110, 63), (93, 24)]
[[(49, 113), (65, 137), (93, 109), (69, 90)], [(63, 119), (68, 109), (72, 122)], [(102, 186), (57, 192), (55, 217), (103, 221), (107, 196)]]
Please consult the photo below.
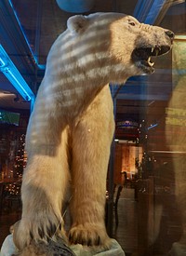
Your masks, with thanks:
[(84, 31), (86, 28), (86, 24), (87, 20), (86, 17), (83, 15), (75, 15), (67, 20), (67, 27), (74, 34)]

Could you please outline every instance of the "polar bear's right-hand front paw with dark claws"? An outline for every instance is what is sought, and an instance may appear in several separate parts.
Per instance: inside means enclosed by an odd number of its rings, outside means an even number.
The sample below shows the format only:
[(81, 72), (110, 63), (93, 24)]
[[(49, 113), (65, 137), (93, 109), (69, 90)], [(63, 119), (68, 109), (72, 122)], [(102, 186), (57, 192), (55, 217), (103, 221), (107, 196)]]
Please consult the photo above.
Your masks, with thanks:
[(73, 226), (69, 233), (69, 241), (72, 244), (109, 247), (109, 240), (105, 229), (99, 225), (80, 224)]

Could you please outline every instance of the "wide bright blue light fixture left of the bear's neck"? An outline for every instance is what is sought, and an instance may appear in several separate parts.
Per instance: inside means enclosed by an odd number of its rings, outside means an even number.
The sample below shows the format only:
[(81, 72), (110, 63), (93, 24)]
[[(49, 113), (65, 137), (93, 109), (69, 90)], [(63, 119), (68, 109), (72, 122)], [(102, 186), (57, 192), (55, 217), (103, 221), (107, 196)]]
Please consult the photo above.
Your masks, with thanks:
[(26, 101), (34, 102), (32, 89), (27, 85), (22, 75), (10, 60), (4, 47), (0, 45), (0, 71), (7, 76), (10, 83), (16, 88), (22, 98)]

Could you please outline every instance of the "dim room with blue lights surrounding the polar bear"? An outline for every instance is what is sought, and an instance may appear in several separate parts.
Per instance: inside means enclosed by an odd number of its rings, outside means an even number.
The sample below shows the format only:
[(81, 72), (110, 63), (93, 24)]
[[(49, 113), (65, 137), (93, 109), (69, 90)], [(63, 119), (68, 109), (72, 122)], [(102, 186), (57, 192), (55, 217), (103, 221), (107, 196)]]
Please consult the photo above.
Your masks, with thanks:
[(186, 3), (70, 2), (0, 1), (0, 247), (21, 216), (25, 135), (48, 51), (73, 15), (116, 12), (175, 37), (171, 51), (153, 58), (153, 74), (110, 84), (115, 126), (105, 181), (107, 232), (126, 256), (184, 255), (178, 241), (186, 224)]

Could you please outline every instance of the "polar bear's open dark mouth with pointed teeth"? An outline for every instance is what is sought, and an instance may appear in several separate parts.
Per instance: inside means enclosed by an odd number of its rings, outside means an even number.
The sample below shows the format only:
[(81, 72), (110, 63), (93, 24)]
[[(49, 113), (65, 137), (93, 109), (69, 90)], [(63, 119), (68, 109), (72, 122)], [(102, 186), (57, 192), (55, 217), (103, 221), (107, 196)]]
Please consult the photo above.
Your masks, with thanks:
[(152, 57), (157, 57), (165, 54), (170, 50), (169, 46), (155, 46), (155, 47), (139, 47), (135, 48), (132, 52), (132, 60), (140, 67), (144, 72), (153, 73), (154, 61)]

